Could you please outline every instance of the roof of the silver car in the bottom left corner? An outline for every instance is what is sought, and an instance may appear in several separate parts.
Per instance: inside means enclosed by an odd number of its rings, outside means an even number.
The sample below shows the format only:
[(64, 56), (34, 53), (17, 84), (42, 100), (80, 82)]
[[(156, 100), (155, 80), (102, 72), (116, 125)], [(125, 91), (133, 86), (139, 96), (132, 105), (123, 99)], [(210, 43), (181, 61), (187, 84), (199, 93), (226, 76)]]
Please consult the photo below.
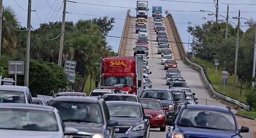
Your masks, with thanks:
[(55, 107), (52, 106), (43, 106), (39, 104), (25, 104), (25, 103), (1, 103), (0, 108), (24, 108), (24, 109), (36, 109), (36, 110), (54, 110)]

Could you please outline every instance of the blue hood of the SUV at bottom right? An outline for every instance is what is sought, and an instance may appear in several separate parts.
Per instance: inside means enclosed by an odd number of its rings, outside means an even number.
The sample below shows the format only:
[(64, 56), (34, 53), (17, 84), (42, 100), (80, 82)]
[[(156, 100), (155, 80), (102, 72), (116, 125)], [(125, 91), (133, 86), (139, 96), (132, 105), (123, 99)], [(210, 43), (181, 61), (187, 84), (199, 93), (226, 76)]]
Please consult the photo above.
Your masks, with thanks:
[(213, 129), (200, 129), (194, 127), (179, 127), (180, 132), (185, 134), (185, 137), (211, 137), (211, 138), (228, 138), (234, 137), (238, 133), (228, 132), (223, 130), (213, 130)]

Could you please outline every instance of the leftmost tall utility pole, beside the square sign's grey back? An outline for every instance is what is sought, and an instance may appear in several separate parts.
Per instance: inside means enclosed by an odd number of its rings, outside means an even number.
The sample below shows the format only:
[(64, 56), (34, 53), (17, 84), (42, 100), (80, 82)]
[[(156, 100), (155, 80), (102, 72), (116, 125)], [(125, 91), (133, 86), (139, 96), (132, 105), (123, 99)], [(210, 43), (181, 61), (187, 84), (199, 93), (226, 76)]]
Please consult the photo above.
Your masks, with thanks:
[(30, 62), (30, 26), (31, 26), (31, 0), (28, 0), (28, 18), (27, 18), (27, 45), (25, 52), (25, 86), (28, 87), (29, 62)]

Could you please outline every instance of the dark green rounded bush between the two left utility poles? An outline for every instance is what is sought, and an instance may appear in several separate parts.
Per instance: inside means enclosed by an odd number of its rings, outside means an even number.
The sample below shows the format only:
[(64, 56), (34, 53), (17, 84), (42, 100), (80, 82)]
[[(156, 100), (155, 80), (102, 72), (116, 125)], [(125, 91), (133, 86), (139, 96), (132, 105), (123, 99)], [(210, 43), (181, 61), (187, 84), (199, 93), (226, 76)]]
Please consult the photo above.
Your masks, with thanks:
[(52, 96), (68, 86), (62, 67), (43, 60), (30, 60), (29, 88), (31, 94)]

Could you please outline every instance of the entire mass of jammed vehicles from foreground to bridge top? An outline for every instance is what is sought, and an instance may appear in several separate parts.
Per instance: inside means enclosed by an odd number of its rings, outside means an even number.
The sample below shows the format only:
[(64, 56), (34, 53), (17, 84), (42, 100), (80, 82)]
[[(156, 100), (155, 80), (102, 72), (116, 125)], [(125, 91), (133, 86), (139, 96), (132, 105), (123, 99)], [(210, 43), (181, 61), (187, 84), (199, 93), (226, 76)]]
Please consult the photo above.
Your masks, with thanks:
[[(32, 97), (26, 86), (0, 84), (1, 136), (149, 138), (161, 132), (159, 137), (181, 138), (242, 137), (249, 132), (238, 125), (231, 107), (200, 103), (180, 71), (162, 6), (152, 7), (152, 17), (148, 11), (148, 1), (137, 1), (132, 54), (101, 57), (100, 78), (89, 95), (62, 91)], [(152, 33), (155, 40), (149, 38)], [(157, 82), (161, 87), (151, 76), (156, 71), (151, 54), (159, 57), (154, 60), (163, 74)]]

